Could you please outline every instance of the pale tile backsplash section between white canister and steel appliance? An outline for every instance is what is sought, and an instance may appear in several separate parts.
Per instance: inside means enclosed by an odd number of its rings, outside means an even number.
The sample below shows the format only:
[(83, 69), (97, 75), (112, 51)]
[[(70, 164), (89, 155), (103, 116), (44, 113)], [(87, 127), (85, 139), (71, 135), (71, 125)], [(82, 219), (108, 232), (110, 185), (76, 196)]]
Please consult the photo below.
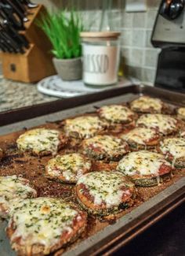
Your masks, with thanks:
[[(155, 2), (155, 5), (152, 5), (152, 2)], [(120, 30), (125, 72), (143, 83), (154, 83), (160, 50), (151, 45), (151, 32), (159, 3), (159, 1), (147, 1), (145, 13), (125, 13), (125, 9), (122, 11)]]

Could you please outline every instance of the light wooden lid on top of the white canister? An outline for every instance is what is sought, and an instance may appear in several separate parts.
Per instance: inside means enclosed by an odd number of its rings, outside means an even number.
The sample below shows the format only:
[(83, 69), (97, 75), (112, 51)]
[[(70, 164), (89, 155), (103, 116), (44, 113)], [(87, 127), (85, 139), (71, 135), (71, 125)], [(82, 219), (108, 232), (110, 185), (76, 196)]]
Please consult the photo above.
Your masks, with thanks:
[(80, 36), (85, 40), (95, 40), (95, 39), (118, 39), (120, 32), (81, 32)]

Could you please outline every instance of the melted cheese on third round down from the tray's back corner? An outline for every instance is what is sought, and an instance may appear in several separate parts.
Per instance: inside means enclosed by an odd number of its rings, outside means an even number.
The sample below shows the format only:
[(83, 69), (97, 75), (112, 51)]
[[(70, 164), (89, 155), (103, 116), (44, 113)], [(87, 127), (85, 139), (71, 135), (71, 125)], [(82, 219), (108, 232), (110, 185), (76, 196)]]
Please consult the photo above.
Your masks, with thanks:
[(134, 142), (137, 144), (146, 145), (148, 141), (156, 138), (156, 135), (158, 134), (156, 133), (156, 131), (154, 131), (154, 129), (139, 127), (134, 128), (128, 133), (122, 135), (121, 138), (125, 139), (128, 142), (131, 141), (131, 143)]

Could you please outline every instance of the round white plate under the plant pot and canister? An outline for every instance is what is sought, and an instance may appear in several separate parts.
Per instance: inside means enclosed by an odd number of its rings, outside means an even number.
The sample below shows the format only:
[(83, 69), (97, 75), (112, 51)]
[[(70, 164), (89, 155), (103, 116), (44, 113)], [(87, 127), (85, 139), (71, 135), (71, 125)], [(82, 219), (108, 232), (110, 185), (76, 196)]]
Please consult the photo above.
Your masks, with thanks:
[(56, 96), (59, 98), (70, 98), (131, 84), (132, 83), (129, 80), (122, 80), (118, 82), (118, 84), (97, 88), (85, 86), (82, 80), (68, 82), (61, 80), (59, 76), (49, 76), (38, 82), (37, 88), (38, 91), (45, 95)]

